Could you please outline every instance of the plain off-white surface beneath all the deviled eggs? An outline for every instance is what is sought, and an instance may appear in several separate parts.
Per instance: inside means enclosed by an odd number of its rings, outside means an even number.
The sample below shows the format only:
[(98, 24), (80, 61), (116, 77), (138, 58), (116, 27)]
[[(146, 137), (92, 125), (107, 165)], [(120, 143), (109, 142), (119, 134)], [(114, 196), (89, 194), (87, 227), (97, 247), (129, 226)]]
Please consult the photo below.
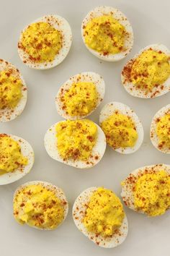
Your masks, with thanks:
[[(120, 182), (130, 171), (153, 163), (170, 163), (169, 155), (156, 150), (149, 138), (151, 119), (158, 109), (169, 103), (170, 93), (148, 100), (133, 98), (120, 82), (123, 65), (140, 48), (151, 43), (170, 46), (169, 0), (0, 0), (0, 4), (0, 58), (11, 61), (21, 70), (28, 87), (28, 101), (24, 112), (14, 121), (0, 124), (0, 132), (23, 137), (35, 150), (35, 165), (30, 174), (19, 182), (0, 187), (0, 254), (2, 256), (168, 256), (169, 213), (158, 218), (147, 218), (125, 208), (129, 223), (127, 239), (120, 247), (102, 249), (76, 229), (71, 217), (71, 206), (76, 197), (88, 187), (104, 186), (120, 195)], [(81, 20), (90, 9), (99, 4), (114, 4), (114, 7), (126, 14), (133, 26), (135, 36), (133, 50), (120, 62), (100, 61), (89, 53), (81, 40)], [(54, 69), (47, 71), (29, 69), (22, 64), (17, 54), (19, 33), (27, 23), (50, 13), (59, 14), (70, 23), (73, 31), (71, 51), (63, 63)], [(134, 154), (122, 155), (107, 147), (104, 158), (97, 166), (89, 170), (78, 170), (53, 161), (45, 151), (43, 137), (50, 125), (61, 120), (55, 109), (55, 95), (58, 88), (71, 75), (86, 70), (101, 74), (106, 82), (104, 101), (90, 118), (99, 123), (102, 106), (110, 101), (120, 101), (138, 114), (143, 122), (145, 137), (143, 145)], [(27, 226), (19, 226), (12, 217), (14, 190), (19, 184), (36, 179), (61, 187), (70, 202), (68, 218), (55, 231), (39, 231)]]

